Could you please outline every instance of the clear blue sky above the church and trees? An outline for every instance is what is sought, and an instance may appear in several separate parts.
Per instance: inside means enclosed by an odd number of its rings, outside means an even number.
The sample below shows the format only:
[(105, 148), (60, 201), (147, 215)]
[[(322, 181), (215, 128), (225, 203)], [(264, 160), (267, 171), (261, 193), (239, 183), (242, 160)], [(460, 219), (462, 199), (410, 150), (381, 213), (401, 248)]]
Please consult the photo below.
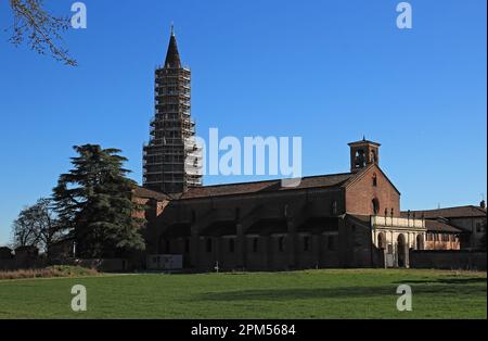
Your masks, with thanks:
[[(382, 143), (401, 207), (477, 204), (486, 193), (486, 1), (87, 0), (65, 39), (70, 68), (14, 48), (0, 3), (0, 244), (49, 195), (72, 146), (117, 147), (141, 181), (153, 73), (175, 22), (192, 68), (197, 132), (301, 136), (305, 175), (347, 172), (347, 142)], [(69, 14), (73, 1), (48, 0)], [(248, 180), (214, 177), (206, 184)]]

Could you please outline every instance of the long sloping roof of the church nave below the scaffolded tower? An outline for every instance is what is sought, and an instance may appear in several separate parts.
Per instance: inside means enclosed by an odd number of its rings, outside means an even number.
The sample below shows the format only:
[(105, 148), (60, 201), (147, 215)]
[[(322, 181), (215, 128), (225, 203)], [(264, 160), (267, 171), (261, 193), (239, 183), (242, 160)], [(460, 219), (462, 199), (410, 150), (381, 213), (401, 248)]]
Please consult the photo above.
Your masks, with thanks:
[(187, 192), (180, 194), (179, 199), (252, 194), (252, 193), (286, 191), (286, 190), (308, 189), (308, 188), (334, 188), (341, 187), (354, 176), (356, 176), (356, 174), (342, 173), (342, 174), (304, 177), (301, 178), (300, 184), (296, 187), (282, 187), (281, 179), (256, 181), (256, 182), (237, 182), (228, 185), (193, 187), (190, 188)]

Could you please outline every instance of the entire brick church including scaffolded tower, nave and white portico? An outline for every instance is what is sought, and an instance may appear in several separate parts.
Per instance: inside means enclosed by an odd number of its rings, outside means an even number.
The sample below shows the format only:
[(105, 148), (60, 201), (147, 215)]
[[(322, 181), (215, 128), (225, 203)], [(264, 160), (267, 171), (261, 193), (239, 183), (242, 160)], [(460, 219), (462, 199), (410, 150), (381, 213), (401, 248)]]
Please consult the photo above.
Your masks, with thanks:
[(460, 229), (400, 211), (380, 143), (367, 139), (349, 143), (348, 172), (305, 177), (294, 188), (281, 180), (202, 186), (190, 78), (171, 33), (155, 72), (143, 187), (134, 189), (147, 207), (147, 268), (164, 268), (165, 255), (194, 270), (408, 267), (409, 250), (424, 249), (429, 229), (446, 249), (459, 249)]

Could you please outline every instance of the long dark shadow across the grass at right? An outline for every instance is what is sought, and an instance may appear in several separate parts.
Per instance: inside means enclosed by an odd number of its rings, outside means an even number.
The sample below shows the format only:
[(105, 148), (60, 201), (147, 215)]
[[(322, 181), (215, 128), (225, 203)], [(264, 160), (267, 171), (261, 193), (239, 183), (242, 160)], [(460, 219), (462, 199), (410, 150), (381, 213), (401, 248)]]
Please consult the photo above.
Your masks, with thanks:
[[(406, 282), (407, 283), (407, 282)], [(412, 283), (412, 282), (410, 282)], [(346, 288), (292, 288), (292, 289), (256, 289), (228, 292), (208, 292), (198, 294), (203, 301), (288, 301), (288, 300), (317, 300), (339, 298), (371, 298), (371, 296), (398, 296), (397, 286), (382, 287), (346, 287)], [(453, 287), (451, 285), (412, 285), (414, 294), (422, 295), (462, 295), (486, 296), (486, 287), (465, 286)]]

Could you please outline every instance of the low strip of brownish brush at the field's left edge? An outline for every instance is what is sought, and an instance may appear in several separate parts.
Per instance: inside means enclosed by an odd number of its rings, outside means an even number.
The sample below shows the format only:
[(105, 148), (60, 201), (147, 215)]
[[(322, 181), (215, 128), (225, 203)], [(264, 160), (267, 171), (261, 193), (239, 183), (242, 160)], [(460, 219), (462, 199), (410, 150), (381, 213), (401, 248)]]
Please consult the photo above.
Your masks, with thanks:
[(0, 271), (0, 279), (48, 278), (48, 277), (79, 277), (95, 276), (99, 273), (92, 268), (69, 265), (54, 265), (39, 269), (20, 269)]

